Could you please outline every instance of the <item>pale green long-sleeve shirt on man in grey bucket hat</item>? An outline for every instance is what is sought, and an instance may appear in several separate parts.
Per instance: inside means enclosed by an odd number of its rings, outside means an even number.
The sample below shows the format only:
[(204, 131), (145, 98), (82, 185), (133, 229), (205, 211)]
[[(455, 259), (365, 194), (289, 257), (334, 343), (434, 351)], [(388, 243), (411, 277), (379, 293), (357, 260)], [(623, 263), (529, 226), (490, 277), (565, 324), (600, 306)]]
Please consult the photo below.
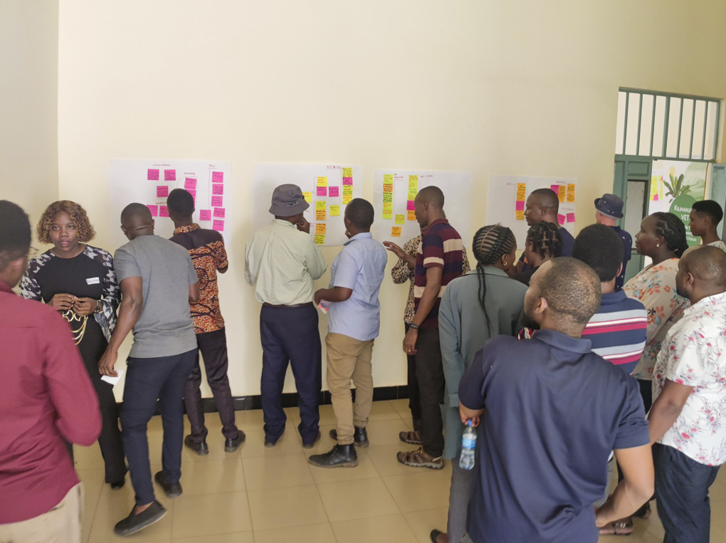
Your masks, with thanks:
[(290, 221), (274, 219), (245, 248), (245, 281), (255, 298), (273, 306), (313, 301), (313, 281), (325, 273), (325, 260), (310, 234)]

